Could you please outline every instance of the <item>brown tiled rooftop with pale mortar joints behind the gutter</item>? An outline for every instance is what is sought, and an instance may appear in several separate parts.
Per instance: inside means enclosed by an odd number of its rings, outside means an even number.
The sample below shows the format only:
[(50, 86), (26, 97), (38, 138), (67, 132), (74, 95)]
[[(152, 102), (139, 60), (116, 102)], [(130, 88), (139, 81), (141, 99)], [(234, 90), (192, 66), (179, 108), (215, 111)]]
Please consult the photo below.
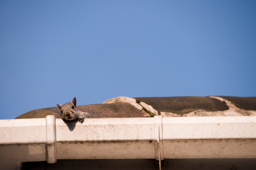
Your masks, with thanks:
[[(79, 102), (79, 101), (78, 101)], [(162, 115), (163, 117), (189, 116), (256, 116), (256, 97), (117, 97), (103, 104), (80, 105), (79, 110), (92, 118), (136, 118)], [(60, 118), (58, 107), (37, 109), (16, 119)]]

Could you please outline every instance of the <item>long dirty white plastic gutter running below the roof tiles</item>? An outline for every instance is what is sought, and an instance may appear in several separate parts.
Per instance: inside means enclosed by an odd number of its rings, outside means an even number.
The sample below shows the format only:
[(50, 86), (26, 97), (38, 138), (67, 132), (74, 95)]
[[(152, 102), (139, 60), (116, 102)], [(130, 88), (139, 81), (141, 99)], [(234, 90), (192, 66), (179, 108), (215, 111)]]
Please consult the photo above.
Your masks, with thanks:
[(67, 124), (54, 116), (0, 120), (1, 169), (57, 159), (256, 158), (255, 116), (100, 118)]

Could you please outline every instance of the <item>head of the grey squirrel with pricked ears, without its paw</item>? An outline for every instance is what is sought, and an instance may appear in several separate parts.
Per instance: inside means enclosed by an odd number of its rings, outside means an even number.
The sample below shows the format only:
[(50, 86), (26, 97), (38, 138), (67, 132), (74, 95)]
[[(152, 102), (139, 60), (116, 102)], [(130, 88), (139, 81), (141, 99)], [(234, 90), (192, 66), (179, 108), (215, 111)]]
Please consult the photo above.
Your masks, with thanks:
[(79, 110), (76, 107), (76, 97), (74, 97), (70, 103), (66, 103), (64, 105), (57, 103), (57, 106), (60, 108), (61, 119), (69, 121), (77, 119)]

